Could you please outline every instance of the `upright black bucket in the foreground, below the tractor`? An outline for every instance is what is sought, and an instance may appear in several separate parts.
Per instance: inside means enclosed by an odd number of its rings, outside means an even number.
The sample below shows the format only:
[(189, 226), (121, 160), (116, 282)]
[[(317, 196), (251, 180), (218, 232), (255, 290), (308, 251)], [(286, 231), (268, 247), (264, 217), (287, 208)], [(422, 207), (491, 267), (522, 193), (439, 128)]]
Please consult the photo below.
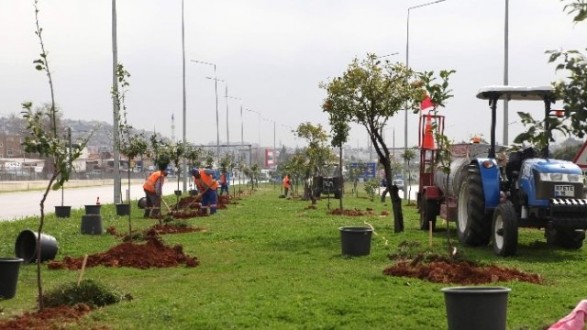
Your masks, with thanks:
[(444, 292), (449, 330), (505, 330), (510, 288), (452, 287)]

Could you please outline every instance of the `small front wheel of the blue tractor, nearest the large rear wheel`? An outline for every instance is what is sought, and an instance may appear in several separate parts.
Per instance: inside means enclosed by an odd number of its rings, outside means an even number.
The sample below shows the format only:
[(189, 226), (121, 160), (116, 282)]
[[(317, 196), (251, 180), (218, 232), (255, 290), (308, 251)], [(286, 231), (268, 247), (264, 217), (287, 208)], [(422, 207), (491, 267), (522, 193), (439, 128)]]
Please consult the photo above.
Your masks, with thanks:
[(518, 249), (518, 215), (511, 202), (499, 204), (493, 213), (493, 252), (507, 257)]

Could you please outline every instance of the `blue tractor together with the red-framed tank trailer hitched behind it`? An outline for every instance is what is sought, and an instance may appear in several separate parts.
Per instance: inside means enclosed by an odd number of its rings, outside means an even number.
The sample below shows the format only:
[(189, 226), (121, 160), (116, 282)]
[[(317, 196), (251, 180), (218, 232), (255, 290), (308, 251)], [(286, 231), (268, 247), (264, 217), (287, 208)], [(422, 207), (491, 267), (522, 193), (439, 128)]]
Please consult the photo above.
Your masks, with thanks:
[[(436, 216), (440, 215), (456, 221), (461, 243), (483, 246), (492, 242), (494, 252), (500, 256), (516, 254), (518, 228), (522, 227), (544, 229), (550, 245), (581, 248), (587, 229), (587, 200), (581, 169), (572, 162), (549, 158), (548, 143), (539, 153), (527, 148), (511, 153), (507, 161), (496, 158), (498, 100), (543, 101), (545, 134), (550, 139), (546, 119), (553, 112), (553, 89), (492, 86), (481, 89), (477, 98), (488, 100), (491, 108), (490, 144), (453, 146), (454, 157), (448, 174), (433, 166), (438, 150), (425, 143), (428, 133), (426, 125), (422, 125), (425, 120), (436, 120), (440, 123), (437, 127), (442, 129), (444, 117), (423, 117), (421, 121), (420, 136), (424, 137), (420, 144), (418, 192), (421, 229), (434, 226)], [(488, 148), (485, 151), (483, 147)]]

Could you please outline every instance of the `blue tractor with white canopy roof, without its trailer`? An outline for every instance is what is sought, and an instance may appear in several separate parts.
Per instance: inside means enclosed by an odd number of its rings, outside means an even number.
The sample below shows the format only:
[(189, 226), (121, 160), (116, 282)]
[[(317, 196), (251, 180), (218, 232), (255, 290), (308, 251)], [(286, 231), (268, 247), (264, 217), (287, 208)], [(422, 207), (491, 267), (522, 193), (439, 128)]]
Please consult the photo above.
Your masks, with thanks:
[(544, 103), (544, 129), (551, 140), (549, 117), (554, 110), (551, 87), (491, 86), (477, 98), (491, 108), (491, 137), (487, 156), (471, 159), (458, 189), (457, 233), (470, 246), (493, 243), (495, 254), (515, 255), (518, 228), (544, 229), (549, 245), (579, 249), (587, 229), (587, 199), (582, 171), (576, 164), (549, 158), (543, 150), (527, 148), (509, 159), (496, 159), (496, 108), (499, 100), (534, 100)]

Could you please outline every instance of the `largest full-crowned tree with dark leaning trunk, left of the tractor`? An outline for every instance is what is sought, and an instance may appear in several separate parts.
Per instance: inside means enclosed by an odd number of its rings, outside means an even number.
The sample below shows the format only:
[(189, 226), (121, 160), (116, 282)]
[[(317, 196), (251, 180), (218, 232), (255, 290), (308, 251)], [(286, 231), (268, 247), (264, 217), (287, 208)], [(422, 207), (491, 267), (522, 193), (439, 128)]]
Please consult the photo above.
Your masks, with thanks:
[[(450, 73), (447, 71), (447, 77)], [(332, 122), (355, 122), (366, 129), (392, 192), (391, 155), (382, 132), (388, 120), (401, 110), (419, 110), (426, 93), (421, 79), (420, 74), (401, 63), (382, 63), (375, 54), (367, 54), (364, 60), (355, 58), (342, 76), (320, 85), (327, 92), (322, 109)], [(401, 232), (403, 213), (397, 189), (392, 205), (394, 231)]]

